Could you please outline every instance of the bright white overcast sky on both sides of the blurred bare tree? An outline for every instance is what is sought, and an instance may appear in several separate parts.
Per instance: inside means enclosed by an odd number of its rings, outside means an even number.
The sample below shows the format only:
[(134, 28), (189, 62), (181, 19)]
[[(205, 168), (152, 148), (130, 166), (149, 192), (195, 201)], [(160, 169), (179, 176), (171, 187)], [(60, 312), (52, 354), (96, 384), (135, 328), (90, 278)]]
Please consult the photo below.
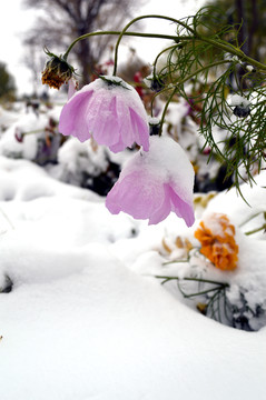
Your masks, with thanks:
[[(138, 16), (146, 13), (158, 13), (175, 18), (183, 18), (195, 13), (204, 0), (150, 0), (138, 10)], [(19, 93), (31, 93), (32, 83), (30, 71), (23, 64), (23, 48), (21, 36), (35, 21), (35, 12), (21, 7), (22, 0), (4, 1), (0, 12), (0, 61), (8, 66), (8, 70), (14, 76)], [(169, 23), (158, 20), (147, 20), (146, 31), (166, 32), (171, 34)], [(152, 62), (156, 53), (162, 48), (161, 40), (149, 41), (148, 39), (132, 39), (134, 47), (140, 57)], [(138, 43), (140, 43), (138, 46)]]

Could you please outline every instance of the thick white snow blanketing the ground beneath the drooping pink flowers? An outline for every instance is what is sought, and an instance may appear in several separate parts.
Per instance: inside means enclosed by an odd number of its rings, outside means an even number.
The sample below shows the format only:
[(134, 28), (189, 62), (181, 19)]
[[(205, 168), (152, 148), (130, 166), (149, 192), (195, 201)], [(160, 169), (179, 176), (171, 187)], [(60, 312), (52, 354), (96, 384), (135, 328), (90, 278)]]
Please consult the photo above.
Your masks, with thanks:
[[(234, 190), (211, 200), (195, 194), (194, 227), (175, 214), (148, 226), (110, 214), (104, 197), (53, 178), (60, 176), (56, 167), (31, 161), (26, 149), (32, 143), (16, 143), (23, 151), (10, 158), (17, 121), (4, 118), (10, 128), (0, 140), (0, 399), (264, 400), (265, 233), (245, 232), (265, 223), (266, 173), (253, 188), (243, 187), (249, 206)], [(26, 124), (33, 117), (27, 118)], [(169, 263), (186, 256), (177, 237), (199, 247), (194, 232), (210, 212), (226, 213), (236, 228), (237, 269), (217, 270), (196, 253), (193, 263)], [(245, 310), (255, 331), (205, 317), (174, 281), (155, 278), (195, 271), (227, 282), (233, 304), (242, 292), (253, 311), (259, 306), (257, 316)]]

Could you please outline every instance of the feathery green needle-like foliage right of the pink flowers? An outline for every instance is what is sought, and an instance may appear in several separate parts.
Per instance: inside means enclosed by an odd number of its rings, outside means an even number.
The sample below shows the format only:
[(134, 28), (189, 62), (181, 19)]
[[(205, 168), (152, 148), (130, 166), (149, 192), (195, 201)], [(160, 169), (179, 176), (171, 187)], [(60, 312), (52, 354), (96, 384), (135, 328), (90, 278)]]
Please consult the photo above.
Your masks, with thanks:
[[(218, 30), (218, 21), (211, 21), (211, 26), (205, 21), (205, 12), (209, 8), (186, 19), (190, 30), (181, 27), (177, 31), (177, 44), (169, 49), (165, 67), (156, 73), (168, 82), (165, 91), (179, 94), (200, 110), (197, 117), (205, 146), (211, 148), (210, 156), (215, 153), (226, 164), (227, 177), (234, 176), (240, 192), (242, 181), (252, 182), (265, 161), (266, 66), (242, 51), (239, 24), (220, 26)], [(230, 106), (231, 94), (249, 102), (247, 112), (245, 107), (237, 112)]]

